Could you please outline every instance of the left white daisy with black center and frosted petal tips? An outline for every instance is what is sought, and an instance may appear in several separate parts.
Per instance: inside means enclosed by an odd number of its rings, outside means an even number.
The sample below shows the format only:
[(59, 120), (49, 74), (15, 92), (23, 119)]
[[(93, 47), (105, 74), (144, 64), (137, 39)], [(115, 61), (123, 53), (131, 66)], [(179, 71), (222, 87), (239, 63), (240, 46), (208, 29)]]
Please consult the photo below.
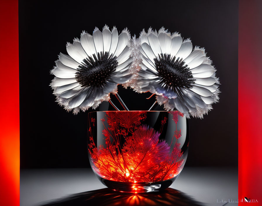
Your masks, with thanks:
[(118, 35), (105, 25), (103, 31), (95, 28), (93, 35), (82, 32), (80, 40), (67, 43), (69, 54), (60, 53), (51, 71), (57, 102), (66, 110), (78, 113), (90, 107), (96, 108), (102, 101), (110, 101), (110, 93), (116, 94), (117, 85), (126, 83), (132, 76), (132, 51), (130, 33), (124, 29)]

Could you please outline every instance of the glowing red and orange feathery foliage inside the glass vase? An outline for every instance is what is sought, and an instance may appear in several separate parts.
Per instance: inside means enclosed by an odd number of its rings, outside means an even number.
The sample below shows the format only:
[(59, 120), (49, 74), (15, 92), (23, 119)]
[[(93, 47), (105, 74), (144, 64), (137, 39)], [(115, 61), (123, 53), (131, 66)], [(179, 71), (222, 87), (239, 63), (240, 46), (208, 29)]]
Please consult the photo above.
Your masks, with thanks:
[[(175, 143), (170, 152), (170, 145), (159, 140), (160, 133), (141, 125), (145, 112), (106, 112), (106, 117), (108, 128), (105, 119), (101, 119), (106, 148), (97, 148), (89, 135), (89, 154), (96, 174), (113, 181), (136, 183), (163, 181), (179, 173), (183, 164), (180, 144)], [(165, 117), (161, 121), (162, 126), (166, 120)], [(179, 133), (177, 138), (181, 130)]]

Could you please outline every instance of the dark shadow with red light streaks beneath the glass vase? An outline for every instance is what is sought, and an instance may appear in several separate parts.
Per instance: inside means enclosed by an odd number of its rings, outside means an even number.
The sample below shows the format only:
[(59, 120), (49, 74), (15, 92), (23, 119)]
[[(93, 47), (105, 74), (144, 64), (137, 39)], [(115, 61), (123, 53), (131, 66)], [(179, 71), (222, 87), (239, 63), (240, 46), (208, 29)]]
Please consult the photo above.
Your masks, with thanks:
[(122, 193), (111, 190), (109, 188), (103, 188), (99, 190), (92, 190), (83, 193), (77, 193), (68, 197), (55, 200), (43, 204), (41, 206), (113, 206), (113, 205), (132, 205), (132, 206), (146, 206), (146, 205), (191, 205), (191, 206), (203, 206), (201, 202), (198, 202), (186, 195), (185, 193), (175, 190), (173, 188), (167, 188), (161, 191), (155, 191), (150, 193)]

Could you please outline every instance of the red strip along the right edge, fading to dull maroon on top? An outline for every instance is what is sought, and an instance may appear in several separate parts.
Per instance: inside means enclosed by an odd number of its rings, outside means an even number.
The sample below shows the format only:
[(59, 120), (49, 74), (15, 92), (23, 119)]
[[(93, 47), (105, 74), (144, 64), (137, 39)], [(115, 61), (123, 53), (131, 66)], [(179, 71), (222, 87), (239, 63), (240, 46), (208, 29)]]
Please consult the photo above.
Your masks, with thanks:
[[(239, 1), (238, 198), (262, 205), (262, 1)], [(239, 205), (242, 205), (240, 203)]]

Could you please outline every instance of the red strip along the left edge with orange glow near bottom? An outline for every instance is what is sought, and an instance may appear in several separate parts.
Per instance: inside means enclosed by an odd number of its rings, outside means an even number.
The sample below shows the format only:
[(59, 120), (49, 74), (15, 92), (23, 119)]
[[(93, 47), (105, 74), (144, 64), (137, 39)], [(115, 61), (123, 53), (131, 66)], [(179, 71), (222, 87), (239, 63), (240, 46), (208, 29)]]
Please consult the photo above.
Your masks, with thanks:
[(0, 205), (19, 205), (18, 0), (0, 3)]

